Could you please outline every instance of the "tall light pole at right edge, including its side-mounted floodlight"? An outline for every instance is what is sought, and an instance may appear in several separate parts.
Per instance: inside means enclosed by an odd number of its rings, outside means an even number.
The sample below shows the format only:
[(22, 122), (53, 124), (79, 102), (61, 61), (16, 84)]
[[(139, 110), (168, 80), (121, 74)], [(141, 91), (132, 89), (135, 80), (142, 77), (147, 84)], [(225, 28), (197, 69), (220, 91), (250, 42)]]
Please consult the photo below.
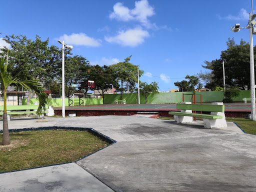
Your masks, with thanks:
[(250, 118), (256, 120), (255, 115), (255, 82), (254, 82), (254, 58), (253, 58), (253, 37), (252, 34), (256, 34), (253, 31), (253, 26), (256, 24), (256, 21), (253, 20), (256, 17), (256, 14), (249, 13), (248, 25), (245, 27), (240, 27), (240, 24), (235, 24), (231, 27), (233, 32), (238, 32), (241, 28), (249, 28), (250, 32), (250, 100), (251, 100), (251, 113)]

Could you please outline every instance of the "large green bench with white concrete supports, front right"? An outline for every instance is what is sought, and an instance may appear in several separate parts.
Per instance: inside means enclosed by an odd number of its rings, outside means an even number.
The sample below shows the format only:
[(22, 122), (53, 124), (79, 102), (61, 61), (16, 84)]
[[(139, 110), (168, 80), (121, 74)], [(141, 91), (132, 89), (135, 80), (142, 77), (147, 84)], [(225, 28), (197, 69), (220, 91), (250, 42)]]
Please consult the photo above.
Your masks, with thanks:
[[(174, 116), (177, 123), (193, 122), (193, 117), (202, 118), (205, 128), (222, 128), (226, 127), (224, 114), (224, 105), (222, 102), (212, 102), (211, 104), (191, 104), (191, 102), (178, 103), (177, 109), (180, 112), (170, 111), (169, 114)], [(207, 111), (210, 114), (192, 113), (195, 111)]]

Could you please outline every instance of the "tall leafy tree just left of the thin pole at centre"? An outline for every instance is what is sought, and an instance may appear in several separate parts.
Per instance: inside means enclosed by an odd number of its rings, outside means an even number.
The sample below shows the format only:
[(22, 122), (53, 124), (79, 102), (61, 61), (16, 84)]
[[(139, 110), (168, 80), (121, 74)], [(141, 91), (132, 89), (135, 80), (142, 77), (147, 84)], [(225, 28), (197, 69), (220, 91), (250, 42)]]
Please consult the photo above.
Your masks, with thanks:
[[(120, 84), (118, 88), (115, 87), (116, 91), (121, 92), (120, 99), (122, 99), (122, 93), (127, 90), (134, 90), (137, 82), (137, 68), (139, 65), (131, 64), (130, 57), (124, 59), (123, 62), (110, 65), (113, 72), (117, 75), (117, 81)], [(138, 70), (138, 75), (143, 74), (143, 70)]]

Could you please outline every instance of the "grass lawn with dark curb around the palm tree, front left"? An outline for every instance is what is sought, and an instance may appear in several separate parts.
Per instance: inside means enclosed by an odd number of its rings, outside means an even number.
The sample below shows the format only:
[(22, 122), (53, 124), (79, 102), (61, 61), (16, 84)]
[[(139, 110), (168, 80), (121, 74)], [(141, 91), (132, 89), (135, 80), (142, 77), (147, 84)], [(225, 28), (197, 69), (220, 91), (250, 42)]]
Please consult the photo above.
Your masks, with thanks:
[(0, 143), (0, 172), (74, 161), (109, 144), (76, 130), (14, 132), (10, 139)]

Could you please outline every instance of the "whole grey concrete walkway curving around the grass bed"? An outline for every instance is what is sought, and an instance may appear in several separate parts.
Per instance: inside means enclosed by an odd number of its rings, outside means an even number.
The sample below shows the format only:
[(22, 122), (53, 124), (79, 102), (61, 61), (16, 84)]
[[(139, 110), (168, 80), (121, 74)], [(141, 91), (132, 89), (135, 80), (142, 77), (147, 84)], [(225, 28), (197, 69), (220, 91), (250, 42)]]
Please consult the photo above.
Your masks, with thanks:
[[(117, 142), (76, 163), (0, 174), (0, 191), (255, 191), (255, 135), (143, 116), (18, 119), (91, 127)], [(0, 123), (0, 129), (2, 123)]]

